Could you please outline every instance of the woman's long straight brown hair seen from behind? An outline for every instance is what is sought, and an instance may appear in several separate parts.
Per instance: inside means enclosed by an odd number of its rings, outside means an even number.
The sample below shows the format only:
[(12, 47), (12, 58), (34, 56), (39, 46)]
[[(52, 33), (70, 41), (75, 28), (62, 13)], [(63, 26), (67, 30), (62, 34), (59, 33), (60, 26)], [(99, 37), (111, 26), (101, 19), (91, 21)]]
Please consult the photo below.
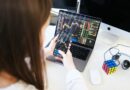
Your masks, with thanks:
[[(44, 89), (40, 34), (50, 0), (0, 0), (0, 71)], [(42, 54), (43, 55), (43, 54)], [(30, 58), (30, 67), (25, 57)]]

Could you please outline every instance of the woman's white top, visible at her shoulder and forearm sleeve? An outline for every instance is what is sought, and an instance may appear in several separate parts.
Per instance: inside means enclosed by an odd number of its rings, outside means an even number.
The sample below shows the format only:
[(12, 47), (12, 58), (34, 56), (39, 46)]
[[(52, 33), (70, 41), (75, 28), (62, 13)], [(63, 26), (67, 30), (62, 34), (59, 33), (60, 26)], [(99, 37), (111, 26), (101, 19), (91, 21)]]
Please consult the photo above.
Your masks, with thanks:
[[(83, 76), (77, 70), (71, 70), (66, 76), (67, 90), (88, 90)], [(37, 90), (33, 85), (29, 85), (21, 80), (0, 90)]]

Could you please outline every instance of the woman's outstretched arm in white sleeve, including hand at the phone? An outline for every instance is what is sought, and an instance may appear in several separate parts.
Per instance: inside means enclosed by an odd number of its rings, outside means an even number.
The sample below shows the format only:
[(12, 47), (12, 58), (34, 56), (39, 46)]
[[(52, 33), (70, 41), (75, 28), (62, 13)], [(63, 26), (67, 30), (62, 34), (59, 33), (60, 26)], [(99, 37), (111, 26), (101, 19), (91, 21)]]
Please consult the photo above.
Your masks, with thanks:
[(68, 70), (66, 77), (67, 90), (88, 90), (83, 76), (75, 68), (70, 50), (66, 54), (62, 51), (59, 51), (59, 53), (63, 56), (62, 62)]

